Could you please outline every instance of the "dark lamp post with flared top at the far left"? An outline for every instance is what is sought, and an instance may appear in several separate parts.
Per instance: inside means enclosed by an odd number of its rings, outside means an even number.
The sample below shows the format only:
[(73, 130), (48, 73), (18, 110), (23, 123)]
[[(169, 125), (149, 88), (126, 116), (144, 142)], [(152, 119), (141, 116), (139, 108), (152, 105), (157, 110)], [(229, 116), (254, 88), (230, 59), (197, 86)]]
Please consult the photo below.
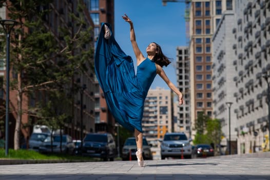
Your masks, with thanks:
[(5, 136), (5, 154), (8, 155), (8, 141), (9, 141), (9, 127), (8, 127), (8, 121), (9, 121), (9, 40), (10, 40), (10, 32), (12, 28), (15, 26), (17, 22), (14, 20), (0, 20), (0, 24), (2, 25), (6, 37), (7, 37), (7, 51), (6, 51), (6, 136)]

